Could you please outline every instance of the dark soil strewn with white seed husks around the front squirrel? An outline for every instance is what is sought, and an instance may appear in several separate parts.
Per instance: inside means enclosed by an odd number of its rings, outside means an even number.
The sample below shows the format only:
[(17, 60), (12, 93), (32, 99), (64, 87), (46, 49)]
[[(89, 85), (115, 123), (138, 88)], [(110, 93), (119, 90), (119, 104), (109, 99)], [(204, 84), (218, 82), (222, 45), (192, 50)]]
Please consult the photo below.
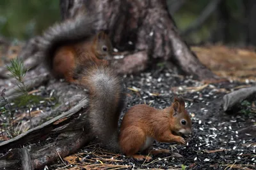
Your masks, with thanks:
[[(127, 88), (133, 90), (127, 89), (127, 108), (124, 113), (134, 104), (141, 103), (165, 108), (170, 105), (174, 95), (180, 95), (186, 100), (186, 108), (191, 113), (194, 135), (187, 146), (177, 143), (154, 143), (154, 149), (173, 150), (176, 156), (165, 153), (152, 156), (150, 162), (144, 162), (117, 155), (115, 159), (122, 160), (121, 162), (113, 160), (105, 164), (131, 166), (127, 169), (181, 169), (184, 166), (186, 169), (256, 169), (255, 131), (239, 134), (240, 129), (256, 122), (253, 105), (255, 99), (241, 103), (241, 106), (230, 113), (224, 113), (222, 110), (222, 98), (225, 94), (241, 85), (255, 85), (254, 82), (216, 83), (195, 92), (188, 92), (186, 87), (202, 87), (204, 84), (193, 80), (191, 76), (180, 76), (165, 67), (125, 76), (125, 81)], [(79, 153), (83, 157), (81, 164), (101, 164), (97, 160), (92, 162), (92, 158), (99, 159), (100, 153), (104, 155), (95, 145), (83, 148)], [(114, 157), (106, 154), (105, 156), (109, 159)], [(51, 168), (63, 166), (65, 165), (60, 161)]]

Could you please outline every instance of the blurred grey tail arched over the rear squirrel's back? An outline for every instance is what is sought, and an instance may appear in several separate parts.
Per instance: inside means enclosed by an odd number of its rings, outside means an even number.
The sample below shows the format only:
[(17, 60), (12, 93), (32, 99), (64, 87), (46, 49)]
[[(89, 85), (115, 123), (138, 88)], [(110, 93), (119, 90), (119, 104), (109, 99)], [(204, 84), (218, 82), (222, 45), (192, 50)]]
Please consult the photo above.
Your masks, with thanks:
[(90, 39), (95, 34), (97, 22), (95, 16), (97, 15), (84, 16), (77, 15), (76, 18), (56, 23), (44, 31), (40, 37), (38, 42), (39, 55), (50, 71), (52, 70), (52, 57), (58, 47)]

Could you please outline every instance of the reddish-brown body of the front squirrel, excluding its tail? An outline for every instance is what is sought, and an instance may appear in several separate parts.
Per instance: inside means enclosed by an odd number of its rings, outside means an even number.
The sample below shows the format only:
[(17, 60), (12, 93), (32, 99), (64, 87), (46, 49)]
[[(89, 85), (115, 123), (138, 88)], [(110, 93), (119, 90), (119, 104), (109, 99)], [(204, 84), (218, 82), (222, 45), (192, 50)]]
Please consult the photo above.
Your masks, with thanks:
[(185, 145), (181, 134), (191, 134), (191, 118), (181, 97), (175, 97), (171, 106), (157, 110), (147, 104), (132, 106), (125, 113), (120, 127), (120, 148), (125, 155), (147, 159), (138, 152), (148, 151), (154, 140)]

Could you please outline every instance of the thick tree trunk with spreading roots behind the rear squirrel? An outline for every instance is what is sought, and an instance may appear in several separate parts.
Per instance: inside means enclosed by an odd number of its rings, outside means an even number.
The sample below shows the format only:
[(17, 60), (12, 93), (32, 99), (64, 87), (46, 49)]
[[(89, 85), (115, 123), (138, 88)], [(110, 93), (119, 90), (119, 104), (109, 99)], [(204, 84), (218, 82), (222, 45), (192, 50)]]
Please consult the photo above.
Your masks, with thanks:
[(99, 12), (96, 29), (108, 30), (115, 48), (129, 51), (117, 62), (121, 73), (136, 73), (170, 60), (186, 74), (217, 78), (180, 38), (165, 0), (63, 0), (60, 6), (63, 20), (81, 11)]

